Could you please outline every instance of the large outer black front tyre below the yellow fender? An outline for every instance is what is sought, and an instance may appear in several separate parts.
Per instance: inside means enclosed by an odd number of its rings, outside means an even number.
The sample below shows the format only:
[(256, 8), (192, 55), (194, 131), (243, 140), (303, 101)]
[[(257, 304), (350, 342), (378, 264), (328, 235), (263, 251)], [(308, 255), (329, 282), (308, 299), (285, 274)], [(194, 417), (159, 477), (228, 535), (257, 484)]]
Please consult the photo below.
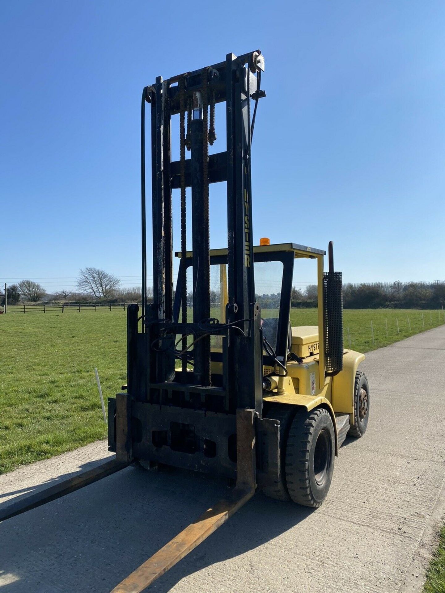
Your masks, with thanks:
[(297, 413), (286, 447), (286, 484), (294, 502), (317, 508), (328, 495), (335, 458), (335, 434), (328, 410)]

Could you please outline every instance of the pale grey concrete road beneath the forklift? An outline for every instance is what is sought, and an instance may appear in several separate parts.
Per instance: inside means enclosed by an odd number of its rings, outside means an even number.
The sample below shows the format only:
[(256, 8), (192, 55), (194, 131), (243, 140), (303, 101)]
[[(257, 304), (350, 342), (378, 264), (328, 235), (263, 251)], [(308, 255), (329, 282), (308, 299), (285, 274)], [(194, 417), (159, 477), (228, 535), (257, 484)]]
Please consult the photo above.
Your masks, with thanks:
[[(420, 591), (445, 511), (445, 327), (367, 355), (370, 424), (317, 511), (256, 495), (152, 585), (161, 593)], [(0, 476), (0, 501), (108, 455), (104, 443)], [(107, 592), (224, 493), (130, 467), (0, 525), (2, 593)]]

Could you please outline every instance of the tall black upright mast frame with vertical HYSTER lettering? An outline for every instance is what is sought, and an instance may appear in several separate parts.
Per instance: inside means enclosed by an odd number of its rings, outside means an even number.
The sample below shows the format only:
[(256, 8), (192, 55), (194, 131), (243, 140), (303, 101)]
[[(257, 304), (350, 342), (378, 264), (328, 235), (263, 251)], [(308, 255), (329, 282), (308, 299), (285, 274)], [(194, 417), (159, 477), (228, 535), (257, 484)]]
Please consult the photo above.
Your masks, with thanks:
[[(142, 287), (142, 331), (138, 313), (128, 311), (128, 390), (136, 401), (169, 404), (234, 414), (239, 407), (262, 414), (262, 332), (255, 300), (250, 178), (250, 98), (258, 91), (253, 65), (255, 52), (226, 56), (224, 62), (164, 81), (160, 76), (145, 89), (151, 104), (153, 302), (146, 304)], [(256, 52), (257, 55), (260, 52)], [(227, 182), (228, 305), (225, 323), (212, 327), (223, 337), (222, 386), (211, 385), (210, 340), (193, 347), (194, 372), (175, 368), (173, 345), (181, 334), (202, 335), (201, 315), (208, 311), (208, 234), (199, 229), (203, 199), (202, 119), (192, 120), (191, 158), (185, 161), (185, 185), (192, 188), (193, 310), (192, 323), (173, 321), (172, 190), (180, 187), (180, 161), (171, 161), (171, 116), (180, 110), (179, 80), (184, 79), (185, 104), (206, 93), (214, 103), (226, 103), (227, 144), (224, 152), (209, 155), (208, 183)], [(206, 88), (204, 88), (206, 85)], [(261, 96), (263, 96), (262, 94)], [(259, 97), (258, 97), (259, 98)], [(204, 141), (207, 136), (204, 130)], [(142, 142), (144, 138), (142, 135)], [(143, 153), (142, 153), (143, 154)], [(142, 157), (144, 158), (144, 157)], [(144, 172), (143, 186), (144, 186)], [(142, 190), (144, 219), (145, 196)], [(202, 216), (202, 215), (201, 215)], [(142, 253), (146, 251), (142, 231)], [(204, 262), (204, 274), (203, 274)], [(142, 259), (142, 278), (147, 266)], [(203, 280), (199, 275), (204, 276)], [(139, 314), (140, 315), (140, 314)], [(199, 318), (198, 318), (199, 317)], [(236, 326), (236, 328), (234, 328)], [(166, 336), (170, 336), (166, 338)], [(216, 397), (216, 394), (221, 397)], [(197, 395), (198, 394), (198, 395)]]

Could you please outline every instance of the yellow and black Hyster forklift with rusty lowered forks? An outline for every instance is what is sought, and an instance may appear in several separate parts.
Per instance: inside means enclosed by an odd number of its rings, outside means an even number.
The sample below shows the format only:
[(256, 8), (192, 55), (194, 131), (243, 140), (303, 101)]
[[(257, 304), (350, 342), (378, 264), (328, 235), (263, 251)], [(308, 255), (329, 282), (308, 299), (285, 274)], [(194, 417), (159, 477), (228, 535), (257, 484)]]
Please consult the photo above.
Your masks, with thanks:
[[(108, 401), (116, 457), (0, 507), (14, 517), (131, 464), (224, 477), (228, 495), (131, 573), (114, 593), (143, 591), (258, 490), (317, 508), (347, 435), (363, 436), (370, 391), (364, 355), (343, 344), (342, 274), (326, 252), (254, 244), (251, 154), (264, 58), (260, 50), (145, 87), (141, 103), (142, 301), (128, 307), (128, 382)], [(253, 103), (252, 103), (253, 101)], [(215, 106), (225, 103), (225, 145)], [(147, 299), (145, 107), (151, 111), (153, 302)], [(252, 111), (253, 108), (253, 111)], [(251, 116), (252, 111), (252, 116)], [(171, 122), (179, 116), (179, 160)], [(220, 135), (220, 132), (218, 132)], [(186, 158), (187, 151), (190, 157)], [(209, 185), (227, 184), (227, 247), (209, 247)], [(187, 188), (189, 200), (187, 201)], [(173, 289), (173, 190), (180, 251)], [(192, 245), (187, 246), (191, 203)], [(191, 247), (190, 249), (187, 249)], [(318, 325), (291, 327), (295, 262), (317, 266)], [(263, 290), (263, 295), (260, 292)]]

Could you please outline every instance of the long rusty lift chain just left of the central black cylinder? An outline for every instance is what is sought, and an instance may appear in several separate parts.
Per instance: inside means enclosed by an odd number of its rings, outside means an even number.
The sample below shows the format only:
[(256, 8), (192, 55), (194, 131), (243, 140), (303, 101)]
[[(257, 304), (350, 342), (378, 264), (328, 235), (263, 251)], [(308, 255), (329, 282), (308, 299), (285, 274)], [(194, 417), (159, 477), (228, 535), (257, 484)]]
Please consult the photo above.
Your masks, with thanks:
[[(182, 287), (181, 308), (182, 323), (187, 323), (187, 234), (186, 234), (186, 180), (185, 180), (185, 84), (186, 75), (179, 79), (179, 144), (180, 144), (180, 189), (181, 189), (181, 260), (182, 260)], [(187, 126), (188, 127), (188, 126)], [(187, 130), (187, 134), (189, 131)], [(187, 348), (187, 337), (182, 337), (182, 352)], [(187, 371), (187, 354), (182, 356), (182, 372)]]

